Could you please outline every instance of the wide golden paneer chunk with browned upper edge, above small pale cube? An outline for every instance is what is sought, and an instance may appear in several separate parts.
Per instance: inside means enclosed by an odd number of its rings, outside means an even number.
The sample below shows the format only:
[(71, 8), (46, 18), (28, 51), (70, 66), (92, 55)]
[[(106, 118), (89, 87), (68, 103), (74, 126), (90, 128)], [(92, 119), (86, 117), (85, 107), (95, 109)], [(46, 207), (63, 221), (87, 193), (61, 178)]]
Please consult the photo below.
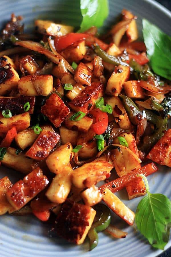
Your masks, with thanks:
[(76, 168), (72, 174), (72, 183), (78, 188), (90, 187), (109, 178), (113, 165), (103, 160), (95, 160)]

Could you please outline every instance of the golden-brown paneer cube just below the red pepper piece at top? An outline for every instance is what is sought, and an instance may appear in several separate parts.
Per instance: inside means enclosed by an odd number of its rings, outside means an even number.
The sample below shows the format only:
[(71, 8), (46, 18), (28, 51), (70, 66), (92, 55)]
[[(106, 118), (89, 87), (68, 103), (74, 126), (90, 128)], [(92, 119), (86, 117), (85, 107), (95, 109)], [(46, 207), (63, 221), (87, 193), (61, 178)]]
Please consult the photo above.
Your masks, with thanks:
[(76, 42), (73, 45), (64, 49), (60, 54), (68, 61), (68, 62), (76, 62), (78, 63), (80, 60), (84, 58), (86, 54), (85, 41)]

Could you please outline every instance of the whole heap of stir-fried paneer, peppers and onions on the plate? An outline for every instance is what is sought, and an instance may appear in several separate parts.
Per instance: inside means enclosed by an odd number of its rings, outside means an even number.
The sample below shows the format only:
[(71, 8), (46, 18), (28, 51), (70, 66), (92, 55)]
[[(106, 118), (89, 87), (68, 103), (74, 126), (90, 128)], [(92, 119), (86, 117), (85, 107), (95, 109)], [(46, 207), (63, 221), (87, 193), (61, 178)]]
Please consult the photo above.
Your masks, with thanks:
[(12, 14), (0, 35), (0, 161), (21, 180), (0, 179), (1, 215), (51, 220), (54, 235), (88, 237), (92, 250), (102, 230), (127, 236), (110, 224), (112, 212), (134, 223), (115, 192), (152, 201), (143, 175), (158, 170), (154, 162), (171, 167), (171, 85), (150, 68), (135, 19), (124, 9), (100, 36), (39, 19), (26, 34)]

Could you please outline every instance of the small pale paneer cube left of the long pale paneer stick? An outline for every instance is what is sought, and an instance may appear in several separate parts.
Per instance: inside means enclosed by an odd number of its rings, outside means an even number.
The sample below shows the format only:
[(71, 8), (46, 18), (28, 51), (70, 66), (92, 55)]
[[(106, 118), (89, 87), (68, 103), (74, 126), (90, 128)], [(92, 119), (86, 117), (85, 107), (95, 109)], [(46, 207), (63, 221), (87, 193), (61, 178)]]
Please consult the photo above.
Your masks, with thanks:
[(81, 193), (84, 203), (88, 206), (98, 204), (102, 199), (102, 194), (97, 186), (91, 186)]

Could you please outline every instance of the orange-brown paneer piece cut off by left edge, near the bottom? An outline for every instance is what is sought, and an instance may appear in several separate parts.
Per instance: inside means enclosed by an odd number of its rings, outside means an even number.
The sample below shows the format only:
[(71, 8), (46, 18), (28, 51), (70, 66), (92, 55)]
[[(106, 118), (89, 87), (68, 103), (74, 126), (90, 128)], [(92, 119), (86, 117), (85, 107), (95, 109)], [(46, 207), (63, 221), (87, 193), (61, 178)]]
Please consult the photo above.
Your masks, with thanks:
[(9, 208), (11, 208), (11, 204), (6, 198), (6, 193), (7, 190), (12, 187), (12, 185), (13, 184), (7, 176), (0, 179), (0, 215), (5, 214)]

